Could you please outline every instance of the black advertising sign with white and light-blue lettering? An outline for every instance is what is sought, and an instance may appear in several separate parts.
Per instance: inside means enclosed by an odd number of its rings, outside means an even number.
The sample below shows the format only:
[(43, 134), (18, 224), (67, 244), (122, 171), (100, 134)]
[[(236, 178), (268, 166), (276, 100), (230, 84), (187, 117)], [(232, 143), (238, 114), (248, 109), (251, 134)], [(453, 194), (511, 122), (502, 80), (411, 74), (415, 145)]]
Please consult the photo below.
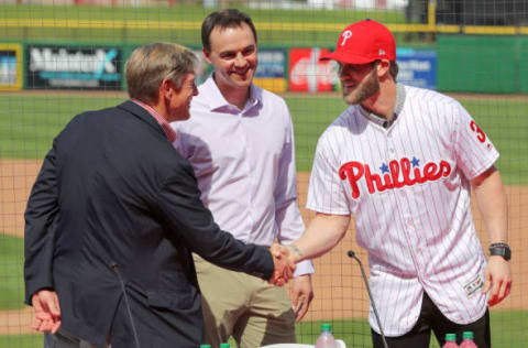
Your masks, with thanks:
[(121, 89), (121, 48), (28, 45), (28, 87)]

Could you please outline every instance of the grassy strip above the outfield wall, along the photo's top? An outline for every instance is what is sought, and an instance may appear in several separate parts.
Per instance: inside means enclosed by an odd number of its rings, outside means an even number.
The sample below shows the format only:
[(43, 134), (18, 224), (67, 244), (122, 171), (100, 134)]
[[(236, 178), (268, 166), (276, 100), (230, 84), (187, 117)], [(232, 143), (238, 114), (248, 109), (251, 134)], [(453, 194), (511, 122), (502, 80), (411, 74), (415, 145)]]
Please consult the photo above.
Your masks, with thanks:
[[(199, 28), (212, 9), (202, 7), (173, 8), (133, 8), (133, 7), (74, 7), (3, 4), (0, 6), (2, 19), (53, 19), (79, 21), (146, 21), (148, 25), (141, 29), (65, 29), (65, 28), (2, 28), (0, 41), (38, 41), (38, 42), (78, 42), (78, 43), (145, 43), (152, 41), (170, 41), (199, 46), (201, 43)], [(372, 18), (385, 23), (403, 23), (403, 11), (352, 11), (352, 10), (251, 10), (248, 12), (258, 30), (262, 45), (320, 45), (333, 46), (339, 30), (300, 30), (280, 29), (283, 23), (339, 23), (344, 28), (356, 20)], [(166, 29), (164, 23), (186, 22), (187, 28)], [(273, 30), (261, 26), (264, 23), (276, 24)], [(404, 37), (403, 35), (397, 35)], [(417, 43), (419, 44), (419, 43)]]

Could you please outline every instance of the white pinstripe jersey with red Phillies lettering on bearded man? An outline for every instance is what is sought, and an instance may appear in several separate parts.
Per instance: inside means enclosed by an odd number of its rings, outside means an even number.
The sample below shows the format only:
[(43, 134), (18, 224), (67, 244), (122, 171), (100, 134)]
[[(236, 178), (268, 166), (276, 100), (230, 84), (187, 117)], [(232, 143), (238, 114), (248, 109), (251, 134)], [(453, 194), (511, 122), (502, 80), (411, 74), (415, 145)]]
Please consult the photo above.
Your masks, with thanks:
[[(470, 180), (498, 152), (465, 109), (441, 94), (397, 85), (388, 128), (349, 107), (321, 135), (307, 208), (353, 214), (387, 336), (409, 331), (426, 291), (452, 322), (482, 317), (486, 259), (470, 209)], [(371, 326), (380, 331), (371, 306)]]

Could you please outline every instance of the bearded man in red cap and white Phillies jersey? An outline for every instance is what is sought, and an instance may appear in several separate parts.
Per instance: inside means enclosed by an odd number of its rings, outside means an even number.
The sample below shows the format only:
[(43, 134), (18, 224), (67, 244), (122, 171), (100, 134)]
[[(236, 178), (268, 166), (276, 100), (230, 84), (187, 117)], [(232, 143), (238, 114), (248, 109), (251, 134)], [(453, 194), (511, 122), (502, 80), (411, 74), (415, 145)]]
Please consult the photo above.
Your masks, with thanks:
[[(354, 215), (388, 346), (428, 347), (431, 330), (472, 330), (491, 346), (487, 305), (512, 286), (507, 202), (498, 152), (468, 111), (432, 90), (396, 83), (393, 34), (349, 25), (326, 59), (339, 63), (350, 107), (319, 139), (307, 208), (317, 215), (290, 248), (297, 260), (333, 248)], [(490, 233), (486, 264), (470, 193)], [(374, 347), (383, 347), (371, 306)]]

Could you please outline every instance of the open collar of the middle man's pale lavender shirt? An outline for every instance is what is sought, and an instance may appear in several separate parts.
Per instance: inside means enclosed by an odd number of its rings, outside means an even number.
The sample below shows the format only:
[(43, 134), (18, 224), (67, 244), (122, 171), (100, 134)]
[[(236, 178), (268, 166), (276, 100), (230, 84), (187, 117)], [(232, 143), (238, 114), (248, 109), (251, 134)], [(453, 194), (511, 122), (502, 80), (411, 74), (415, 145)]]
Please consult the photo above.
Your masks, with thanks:
[(226, 112), (226, 113), (242, 113), (245, 115), (254, 107), (262, 104), (262, 89), (255, 86), (253, 83), (250, 85), (250, 99), (245, 102), (243, 110), (240, 110), (237, 106), (229, 104), (223, 97), (222, 93), (215, 81), (212, 73), (207, 80), (200, 86), (199, 97), (207, 104), (211, 111)]

